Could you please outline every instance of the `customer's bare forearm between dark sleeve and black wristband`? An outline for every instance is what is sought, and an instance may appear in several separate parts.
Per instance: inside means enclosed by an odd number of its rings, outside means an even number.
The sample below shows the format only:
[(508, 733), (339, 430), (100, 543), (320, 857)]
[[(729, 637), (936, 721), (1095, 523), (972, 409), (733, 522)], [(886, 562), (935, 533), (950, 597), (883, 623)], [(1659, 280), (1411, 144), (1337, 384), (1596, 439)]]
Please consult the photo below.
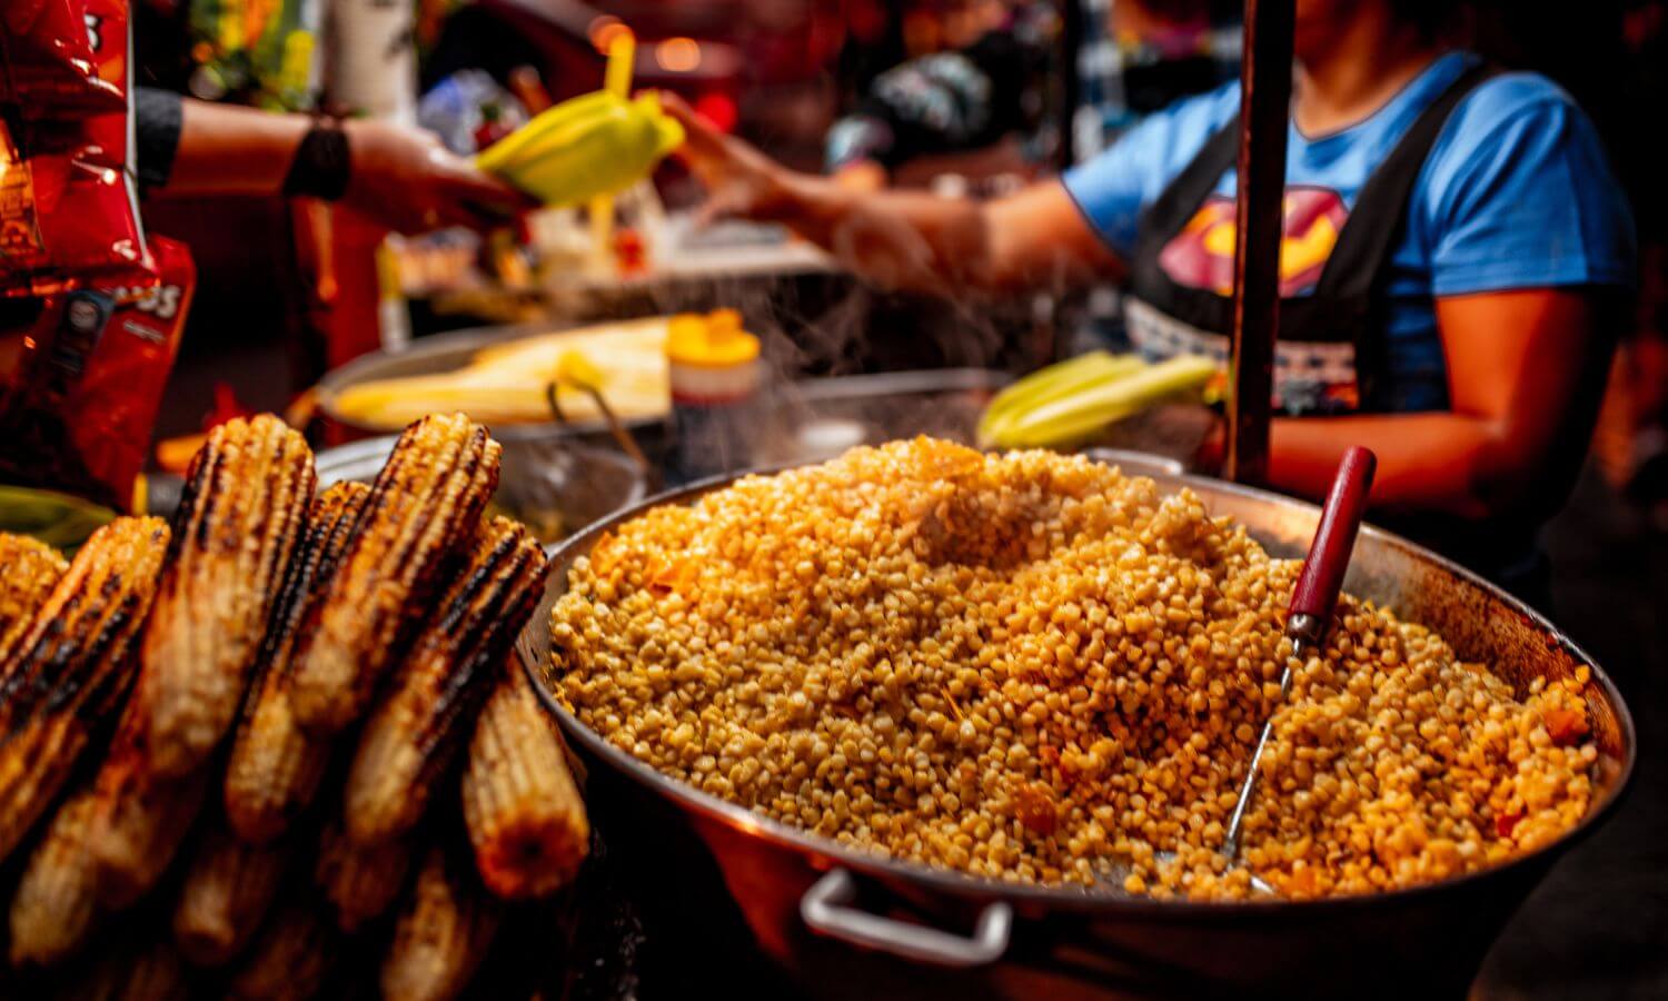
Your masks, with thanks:
[(277, 195), (312, 122), (185, 100), (168, 195)]

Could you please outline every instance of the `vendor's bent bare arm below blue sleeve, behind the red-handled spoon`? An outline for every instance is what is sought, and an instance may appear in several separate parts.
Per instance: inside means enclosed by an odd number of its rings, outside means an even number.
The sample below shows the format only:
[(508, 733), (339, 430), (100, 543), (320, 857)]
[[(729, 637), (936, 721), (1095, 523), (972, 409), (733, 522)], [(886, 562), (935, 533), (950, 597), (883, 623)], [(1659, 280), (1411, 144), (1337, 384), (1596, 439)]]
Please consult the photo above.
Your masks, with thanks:
[(1273, 485), (1326, 494), (1346, 445), (1378, 452), (1373, 502), (1468, 517), (1546, 514), (1585, 455), (1616, 314), (1590, 290), (1441, 299), (1451, 410), (1278, 419)]

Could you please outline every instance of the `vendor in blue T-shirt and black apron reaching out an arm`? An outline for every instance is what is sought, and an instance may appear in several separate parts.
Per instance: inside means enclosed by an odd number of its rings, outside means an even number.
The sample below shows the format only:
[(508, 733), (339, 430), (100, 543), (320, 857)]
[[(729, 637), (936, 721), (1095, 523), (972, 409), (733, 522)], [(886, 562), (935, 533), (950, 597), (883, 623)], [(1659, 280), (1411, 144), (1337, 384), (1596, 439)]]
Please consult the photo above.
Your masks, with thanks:
[[(1625, 322), (1626, 200), (1568, 95), (1451, 47), (1458, 3), (1296, 7), (1269, 479), (1321, 497), (1368, 445), (1376, 521), (1523, 587)], [(1238, 85), (989, 202), (841, 190), (671, 107), (709, 212), (784, 220), (909, 289), (1111, 275), (1144, 352), (1224, 357)]]

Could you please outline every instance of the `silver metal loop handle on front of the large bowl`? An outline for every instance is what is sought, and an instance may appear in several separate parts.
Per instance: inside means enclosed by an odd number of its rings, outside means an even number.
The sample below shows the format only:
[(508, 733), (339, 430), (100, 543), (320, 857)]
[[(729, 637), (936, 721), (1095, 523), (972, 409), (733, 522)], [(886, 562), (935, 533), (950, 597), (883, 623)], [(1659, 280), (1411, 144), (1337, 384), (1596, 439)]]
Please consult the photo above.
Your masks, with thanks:
[(962, 938), (859, 911), (849, 906), (856, 898), (857, 883), (851, 873), (832, 869), (799, 899), (799, 916), (812, 931), (842, 943), (952, 968), (987, 966), (1001, 959), (1014, 926), (1014, 909), (1001, 901), (984, 908), (972, 938)]

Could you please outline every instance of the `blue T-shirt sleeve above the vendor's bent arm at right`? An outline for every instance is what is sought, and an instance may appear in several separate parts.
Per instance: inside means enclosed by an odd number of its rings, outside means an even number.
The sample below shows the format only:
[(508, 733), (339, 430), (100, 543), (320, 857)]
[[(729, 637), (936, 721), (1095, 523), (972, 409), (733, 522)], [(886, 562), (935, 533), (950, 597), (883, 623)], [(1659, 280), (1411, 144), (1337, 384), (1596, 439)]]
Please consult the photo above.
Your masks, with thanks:
[[(1630, 285), (1633, 220), (1586, 115), (1553, 83), (1485, 83), (1448, 122), (1413, 225), (1431, 294)], [(1416, 235), (1416, 234), (1414, 234)]]

